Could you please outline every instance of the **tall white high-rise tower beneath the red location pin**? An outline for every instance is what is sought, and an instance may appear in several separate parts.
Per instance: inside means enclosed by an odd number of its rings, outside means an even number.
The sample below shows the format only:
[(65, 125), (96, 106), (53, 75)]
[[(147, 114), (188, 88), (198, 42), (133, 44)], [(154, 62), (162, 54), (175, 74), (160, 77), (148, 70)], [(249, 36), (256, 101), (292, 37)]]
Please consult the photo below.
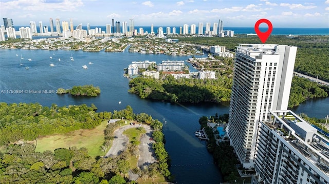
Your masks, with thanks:
[(227, 134), (243, 167), (253, 167), (259, 121), (286, 110), (297, 47), (241, 44), (235, 52)]

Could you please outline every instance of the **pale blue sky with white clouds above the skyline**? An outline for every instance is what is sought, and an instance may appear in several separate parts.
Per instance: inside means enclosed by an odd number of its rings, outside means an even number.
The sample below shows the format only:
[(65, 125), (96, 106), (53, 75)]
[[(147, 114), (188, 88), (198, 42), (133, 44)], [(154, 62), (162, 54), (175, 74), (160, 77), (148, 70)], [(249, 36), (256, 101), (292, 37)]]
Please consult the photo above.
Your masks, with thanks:
[[(254, 27), (261, 18), (273, 28), (329, 28), (329, 0), (0, 0), (2, 18), (14, 26), (36, 25), (59, 18), (74, 26), (112, 25), (134, 19), (136, 26), (182, 26), (223, 20), (225, 27)], [(1, 20), (0, 25), (3, 25)], [(263, 23), (260, 27), (266, 27)]]

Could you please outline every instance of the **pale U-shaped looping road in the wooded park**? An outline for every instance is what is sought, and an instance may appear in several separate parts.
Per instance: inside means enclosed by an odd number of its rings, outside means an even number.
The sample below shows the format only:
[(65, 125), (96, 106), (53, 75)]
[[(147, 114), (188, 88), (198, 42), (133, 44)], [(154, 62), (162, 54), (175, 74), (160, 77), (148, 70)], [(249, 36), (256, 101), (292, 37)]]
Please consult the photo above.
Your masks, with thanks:
[[(122, 132), (131, 129), (131, 128), (137, 128), (139, 125), (126, 125), (123, 127), (118, 128), (114, 131), (114, 136), (117, 136), (118, 138), (113, 139), (112, 146), (106, 153), (105, 157), (109, 156), (116, 156), (122, 153), (126, 149), (127, 142), (129, 141), (128, 137), (123, 135)], [(140, 138), (140, 144), (138, 146), (139, 149), (139, 158), (138, 158), (138, 167), (147, 166), (150, 163), (155, 162), (155, 157), (153, 154), (152, 149), (152, 141), (150, 140), (152, 135), (152, 130), (150, 126), (142, 125), (146, 131), (145, 134), (143, 134)]]

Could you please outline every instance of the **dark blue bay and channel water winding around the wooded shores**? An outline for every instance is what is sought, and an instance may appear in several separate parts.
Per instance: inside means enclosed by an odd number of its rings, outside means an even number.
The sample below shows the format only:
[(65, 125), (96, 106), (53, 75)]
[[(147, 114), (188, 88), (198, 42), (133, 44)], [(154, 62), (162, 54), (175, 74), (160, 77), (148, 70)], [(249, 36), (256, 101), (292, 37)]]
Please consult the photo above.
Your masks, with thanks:
[[(21, 55), (24, 57), (22, 60)], [(71, 55), (74, 57), (73, 62), (70, 60)], [(198, 140), (194, 132), (199, 129), (199, 117), (228, 113), (229, 104), (171, 104), (140, 99), (137, 95), (127, 92), (129, 79), (123, 77), (123, 69), (134, 61), (150, 60), (161, 63), (162, 60), (186, 60), (189, 57), (191, 56), (127, 51), (110, 53), (0, 49), (0, 91), (23, 90), (20, 94), (0, 93), (0, 101), (40, 103), (43, 106), (93, 103), (98, 107), (98, 111), (111, 112), (130, 105), (135, 113), (145, 112), (163, 121), (166, 149), (172, 164), (170, 171), (177, 183), (220, 183), (220, 170), (213, 163), (212, 155), (207, 152), (206, 143)], [(31, 58), (31, 61), (28, 61), (28, 58)], [(20, 65), (21, 62), (23, 65)], [(89, 62), (93, 64), (88, 64)], [(55, 66), (50, 67), (51, 63)], [(83, 69), (83, 65), (87, 65), (88, 69)], [(25, 69), (26, 66), (29, 69)], [(51, 92), (58, 88), (69, 89), (72, 86), (89, 84), (99, 86), (101, 94), (97, 97), (72, 97)], [(40, 90), (41, 93), (38, 92)], [(297, 113), (304, 112), (319, 118), (324, 118), (329, 113), (326, 112), (328, 109), (329, 98), (307, 101), (295, 108)]]

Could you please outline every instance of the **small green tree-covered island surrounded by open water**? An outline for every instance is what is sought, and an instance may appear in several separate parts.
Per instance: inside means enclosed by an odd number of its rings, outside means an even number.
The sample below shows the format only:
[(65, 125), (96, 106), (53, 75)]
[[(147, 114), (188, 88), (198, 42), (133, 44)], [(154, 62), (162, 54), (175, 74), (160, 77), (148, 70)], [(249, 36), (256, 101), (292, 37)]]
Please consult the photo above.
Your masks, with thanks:
[(71, 94), (74, 96), (97, 96), (101, 93), (99, 87), (94, 87), (93, 85), (84, 86), (74, 86), (72, 89), (58, 88), (57, 94)]

